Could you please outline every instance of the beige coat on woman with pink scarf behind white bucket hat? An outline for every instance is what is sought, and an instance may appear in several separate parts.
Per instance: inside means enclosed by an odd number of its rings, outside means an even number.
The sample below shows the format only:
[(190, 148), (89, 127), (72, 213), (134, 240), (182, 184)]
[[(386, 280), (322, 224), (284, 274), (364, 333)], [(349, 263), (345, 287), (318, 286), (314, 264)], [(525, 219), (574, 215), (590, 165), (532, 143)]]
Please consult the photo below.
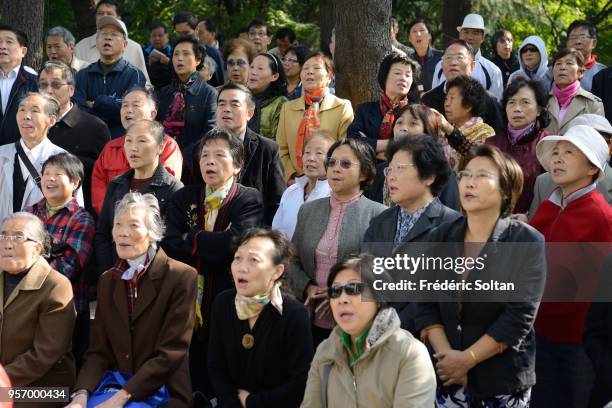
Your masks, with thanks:
[(553, 135), (564, 135), (569, 129), (568, 125), (576, 116), (584, 115), (585, 113), (595, 113), (604, 116), (603, 103), (601, 99), (590, 92), (580, 88), (570, 104), (569, 108), (563, 115), (563, 119), (559, 120), (559, 102), (551, 93), (548, 97), (546, 106), (550, 112), (550, 125), (546, 128)]

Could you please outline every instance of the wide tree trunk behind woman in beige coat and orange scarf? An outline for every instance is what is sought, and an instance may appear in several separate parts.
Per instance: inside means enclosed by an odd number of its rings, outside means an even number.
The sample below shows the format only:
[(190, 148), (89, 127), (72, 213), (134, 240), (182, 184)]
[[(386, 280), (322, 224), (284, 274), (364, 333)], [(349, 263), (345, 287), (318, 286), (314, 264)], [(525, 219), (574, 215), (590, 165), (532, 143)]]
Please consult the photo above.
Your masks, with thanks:
[(391, 52), (391, 0), (334, 0), (336, 95), (356, 107), (379, 97), (378, 66)]

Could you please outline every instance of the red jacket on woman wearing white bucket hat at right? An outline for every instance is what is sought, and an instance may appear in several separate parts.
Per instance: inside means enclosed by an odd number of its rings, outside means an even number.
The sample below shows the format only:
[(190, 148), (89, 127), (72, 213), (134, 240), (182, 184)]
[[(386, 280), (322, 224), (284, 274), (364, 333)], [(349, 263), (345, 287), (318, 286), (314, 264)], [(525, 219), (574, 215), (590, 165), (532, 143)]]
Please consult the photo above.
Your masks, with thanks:
[[(570, 202), (565, 208), (549, 198), (540, 204), (530, 224), (544, 235), (547, 243), (612, 242), (612, 207), (597, 190)], [(600, 271), (606, 254), (595, 252), (590, 257), (581, 254), (580, 259), (584, 261), (585, 256), (589, 257), (589, 261), (599, 265), (597, 270)], [(560, 275), (557, 272), (562, 273), (563, 267), (567, 265), (559, 265), (559, 268), (554, 265), (564, 261), (549, 256), (547, 289), (559, 282)], [(546, 291), (544, 293), (546, 296)], [(535, 322), (536, 333), (548, 341), (579, 344), (582, 342), (589, 307), (588, 302), (542, 303)]]

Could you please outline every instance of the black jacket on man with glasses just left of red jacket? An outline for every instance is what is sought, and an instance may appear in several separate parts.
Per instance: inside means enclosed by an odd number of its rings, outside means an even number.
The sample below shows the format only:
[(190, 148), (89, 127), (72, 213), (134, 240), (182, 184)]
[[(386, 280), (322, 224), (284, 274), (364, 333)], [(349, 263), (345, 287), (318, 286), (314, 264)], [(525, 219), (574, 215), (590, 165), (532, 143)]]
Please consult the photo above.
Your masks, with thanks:
[(110, 130), (102, 119), (84, 112), (77, 104), (49, 129), (49, 140), (77, 156), (83, 163), (83, 197), (85, 208), (92, 214), (95, 212), (91, 206), (91, 174), (94, 163), (110, 136)]

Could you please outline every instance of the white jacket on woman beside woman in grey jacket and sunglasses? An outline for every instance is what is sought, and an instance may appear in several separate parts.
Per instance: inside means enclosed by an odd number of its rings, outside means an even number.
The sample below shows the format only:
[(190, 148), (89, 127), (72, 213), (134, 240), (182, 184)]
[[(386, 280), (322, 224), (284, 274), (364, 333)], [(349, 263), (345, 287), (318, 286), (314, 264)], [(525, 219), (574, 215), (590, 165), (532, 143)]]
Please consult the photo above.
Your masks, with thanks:
[(304, 201), (304, 188), (308, 184), (308, 177), (300, 176), (295, 179), (295, 183), (289, 186), (281, 197), (280, 205), (274, 219), (272, 220), (272, 228), (283, 231), (287, 237), (291, 239), (297, 225), (297, 214), (304, 202), (310, 202), (319, 198), (329, 197), (331, 190), (327, 180), (317, 180), (315, 188), (312, 189), (310, 195)]

